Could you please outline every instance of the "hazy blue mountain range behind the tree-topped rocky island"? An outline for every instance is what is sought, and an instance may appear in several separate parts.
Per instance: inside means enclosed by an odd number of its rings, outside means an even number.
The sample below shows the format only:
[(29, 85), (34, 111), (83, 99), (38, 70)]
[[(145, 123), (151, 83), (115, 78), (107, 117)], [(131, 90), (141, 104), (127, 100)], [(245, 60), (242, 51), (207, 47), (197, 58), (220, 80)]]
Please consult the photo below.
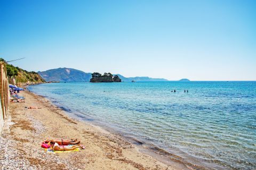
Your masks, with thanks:
[[(70, 68), (59, 68), (51, 69), (46, 71), (37, 72), (45, 81), (85, 81), (89, 82), (92, 78), (91, 73), (85, 73), (80, 70), (70, 69)], [(126, 78), (121, 74), (116, 74), (122, 81), (168, 81), (166, 79), (155, 79), (149, 77), (133, 77)]]

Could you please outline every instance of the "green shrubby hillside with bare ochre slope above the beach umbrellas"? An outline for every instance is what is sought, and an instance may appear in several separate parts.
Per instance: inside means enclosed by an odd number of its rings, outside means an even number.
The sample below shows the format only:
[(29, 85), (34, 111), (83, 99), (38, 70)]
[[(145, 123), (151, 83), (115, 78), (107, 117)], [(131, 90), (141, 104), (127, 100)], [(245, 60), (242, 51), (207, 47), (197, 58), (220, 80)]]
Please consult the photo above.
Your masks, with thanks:
[[(5, 62), (3, 58), (0, 58), (1, 62)], [(15, 78), (16, 82), (45, 82), (45, 80), (36, 72), (34, 71), (26, 71), (20, 69), (19, 67), (15, 67), (12, 64), (8, 64), (5, 62), (7, 77)]]

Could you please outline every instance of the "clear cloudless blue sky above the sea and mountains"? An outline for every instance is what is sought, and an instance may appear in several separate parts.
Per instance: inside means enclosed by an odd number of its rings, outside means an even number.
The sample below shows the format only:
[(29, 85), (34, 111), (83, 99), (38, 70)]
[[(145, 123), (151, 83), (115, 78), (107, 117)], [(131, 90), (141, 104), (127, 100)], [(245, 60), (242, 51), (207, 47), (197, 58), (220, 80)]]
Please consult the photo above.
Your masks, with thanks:
[(256, 1), (0, 0), (0, 57), (26, 57), (12, 64), (27, 71), (256, 80)]

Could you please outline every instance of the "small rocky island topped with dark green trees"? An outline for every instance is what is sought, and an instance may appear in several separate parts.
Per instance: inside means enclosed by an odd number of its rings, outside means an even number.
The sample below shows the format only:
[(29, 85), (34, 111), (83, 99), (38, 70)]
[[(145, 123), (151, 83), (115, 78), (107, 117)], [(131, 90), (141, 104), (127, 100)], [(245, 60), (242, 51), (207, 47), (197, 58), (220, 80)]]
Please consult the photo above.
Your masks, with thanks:
[(118, 77), (118, 75), (113, 75), (111, 73), (104, 73), (101, 75), (100, 73), (94, 72), (92, 73), (90, 82), (121, 82), (121, 79)]

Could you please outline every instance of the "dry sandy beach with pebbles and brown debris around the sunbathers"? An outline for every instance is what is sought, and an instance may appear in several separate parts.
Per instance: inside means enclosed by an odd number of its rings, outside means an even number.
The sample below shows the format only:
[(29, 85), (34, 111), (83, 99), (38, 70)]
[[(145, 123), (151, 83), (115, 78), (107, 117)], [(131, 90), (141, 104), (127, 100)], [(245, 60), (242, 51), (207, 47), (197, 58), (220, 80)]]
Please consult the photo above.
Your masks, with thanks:
[[(44, 97), (29, 91), (19, 95), (26, 103), (10, 103), (0, 140), (1, 169), (181, 169), (142, 154), (117, 135), (68, 117)], [(49, 154), (41, 148), (45, 139), (78, 139), (85, 149)]]

